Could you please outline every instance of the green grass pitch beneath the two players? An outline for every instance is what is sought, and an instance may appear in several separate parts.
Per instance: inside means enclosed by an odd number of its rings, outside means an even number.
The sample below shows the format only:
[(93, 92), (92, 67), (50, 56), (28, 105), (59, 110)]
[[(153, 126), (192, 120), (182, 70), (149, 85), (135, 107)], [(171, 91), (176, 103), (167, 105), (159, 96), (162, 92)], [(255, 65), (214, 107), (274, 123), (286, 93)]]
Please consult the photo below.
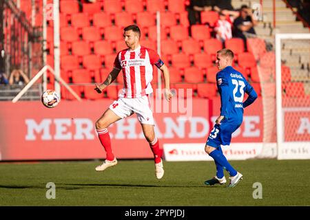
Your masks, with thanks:
[[(0, 206), (309, 206), (310, 160), (231, 161), (243, 174), (235, 188), (205, 186), (214, 162), (164, 162), (158, 180), (152, 160), (0, 163)], [(225, 171), (225, 176), (229, 175)], [(54, 182), (56, 198), (46, 199)], [(262, 199), (254, 199), (254, 183)]]

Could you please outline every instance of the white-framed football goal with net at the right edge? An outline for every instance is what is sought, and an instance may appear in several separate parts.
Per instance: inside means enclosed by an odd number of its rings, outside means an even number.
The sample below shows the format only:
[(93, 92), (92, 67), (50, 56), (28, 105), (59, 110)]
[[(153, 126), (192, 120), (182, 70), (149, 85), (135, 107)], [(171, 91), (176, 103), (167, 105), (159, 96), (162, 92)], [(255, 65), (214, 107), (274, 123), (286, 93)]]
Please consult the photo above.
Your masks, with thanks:
[(310, 34), (276, 34), (275, 45), (278, 159), (310, 159)]

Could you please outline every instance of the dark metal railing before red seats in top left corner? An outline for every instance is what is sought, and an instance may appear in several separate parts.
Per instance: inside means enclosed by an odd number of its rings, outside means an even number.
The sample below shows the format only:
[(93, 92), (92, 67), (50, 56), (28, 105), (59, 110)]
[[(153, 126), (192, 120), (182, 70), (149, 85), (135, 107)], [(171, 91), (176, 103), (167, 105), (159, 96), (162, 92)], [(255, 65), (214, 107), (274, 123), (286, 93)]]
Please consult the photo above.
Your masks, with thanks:
[(0, 71), (9, 76), (21, 69), (31, 78), (32, 71), (43, 67), (41, 28), (32, 27), (12, 0), (0, 1), (0, 19)]

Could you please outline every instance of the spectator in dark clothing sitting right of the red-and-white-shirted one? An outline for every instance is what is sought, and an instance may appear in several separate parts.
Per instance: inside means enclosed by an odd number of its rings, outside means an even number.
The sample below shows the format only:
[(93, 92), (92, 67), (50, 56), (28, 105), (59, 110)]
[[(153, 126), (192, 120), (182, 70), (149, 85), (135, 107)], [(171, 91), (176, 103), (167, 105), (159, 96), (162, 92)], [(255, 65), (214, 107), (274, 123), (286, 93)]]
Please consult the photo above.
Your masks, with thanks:
[(247, 36), (256, 36), (254, 26), (257, 21), (254, 19), (251, 8), (242, 5), (240, 8), (240, 16), (234, 20), (233, 36), (245, 41), (245, 50), (247, 50)]

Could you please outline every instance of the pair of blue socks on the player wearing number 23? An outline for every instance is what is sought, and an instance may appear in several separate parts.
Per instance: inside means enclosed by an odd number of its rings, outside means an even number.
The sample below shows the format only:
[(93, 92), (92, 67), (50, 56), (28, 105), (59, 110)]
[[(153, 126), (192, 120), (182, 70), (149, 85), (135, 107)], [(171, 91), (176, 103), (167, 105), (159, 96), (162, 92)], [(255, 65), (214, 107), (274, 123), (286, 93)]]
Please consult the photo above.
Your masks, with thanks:
[(229, 164), (226, 157), (223, 155), (223, 151), (220, 147), (212, 151), (209, 156), (212, 157), (216, 163), (216, 176), (218, 178), (224, 176), (223, 168), (227, 170), (231, 177), (234, 177), (237, 174), (237, 171)]

